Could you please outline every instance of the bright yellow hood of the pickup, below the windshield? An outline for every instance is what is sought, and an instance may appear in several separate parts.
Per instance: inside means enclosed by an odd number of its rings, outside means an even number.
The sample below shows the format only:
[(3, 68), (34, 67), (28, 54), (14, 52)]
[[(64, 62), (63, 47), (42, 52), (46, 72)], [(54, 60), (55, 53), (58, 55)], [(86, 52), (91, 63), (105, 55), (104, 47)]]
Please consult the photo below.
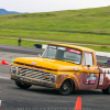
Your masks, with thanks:
[(14, 62), (56, 70), (75, 70), (79, 67), (76, 64), (42, 57), (21, 57), (15, 58)]

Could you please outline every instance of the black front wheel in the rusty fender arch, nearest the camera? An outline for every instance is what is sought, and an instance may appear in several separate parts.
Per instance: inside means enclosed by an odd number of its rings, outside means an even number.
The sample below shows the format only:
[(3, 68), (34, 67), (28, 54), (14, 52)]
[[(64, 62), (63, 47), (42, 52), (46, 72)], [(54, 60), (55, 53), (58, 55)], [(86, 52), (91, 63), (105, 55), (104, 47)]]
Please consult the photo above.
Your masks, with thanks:
[(67, 79), (61, 86), (59, 94), (65, 96), (69, 95), (73, 91), (73, 87), (74, 87), (73, 80)]

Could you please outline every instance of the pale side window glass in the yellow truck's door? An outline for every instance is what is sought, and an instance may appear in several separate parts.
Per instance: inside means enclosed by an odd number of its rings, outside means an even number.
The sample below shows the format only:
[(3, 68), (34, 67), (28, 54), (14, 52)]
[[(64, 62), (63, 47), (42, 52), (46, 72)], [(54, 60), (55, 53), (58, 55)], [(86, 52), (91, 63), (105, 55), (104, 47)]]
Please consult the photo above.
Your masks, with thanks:
[(82, 65), (90, 65), (92, 66), (92, 54), (90, 53), (85, 53), (84, 55), (84, 61), (82, 61)]

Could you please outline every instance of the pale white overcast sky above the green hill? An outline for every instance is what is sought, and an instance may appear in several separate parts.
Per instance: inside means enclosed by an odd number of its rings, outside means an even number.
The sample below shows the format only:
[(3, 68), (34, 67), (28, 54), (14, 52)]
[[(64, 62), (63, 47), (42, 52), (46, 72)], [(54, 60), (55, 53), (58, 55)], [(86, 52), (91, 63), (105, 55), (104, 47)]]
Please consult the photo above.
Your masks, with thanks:
[(51, 12), (110, 6), (110, 0), (0, 0), (0, 9), (18, 12)]

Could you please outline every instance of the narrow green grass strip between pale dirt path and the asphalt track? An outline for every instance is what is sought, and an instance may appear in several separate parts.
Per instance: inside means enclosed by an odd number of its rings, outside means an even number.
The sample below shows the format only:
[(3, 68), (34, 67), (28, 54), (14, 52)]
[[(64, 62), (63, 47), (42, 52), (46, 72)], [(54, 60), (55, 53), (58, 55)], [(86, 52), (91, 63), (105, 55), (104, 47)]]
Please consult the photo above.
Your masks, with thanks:
[[(18, 46), (18, 38), (0, 37), (0, 44), (9, 44), (9, 45)], [(21, 42), (21, 46), (26, 46), (26, 47), (34, 47), (34, 44), (47, 45), (48, 43), (26, 41), (26, 40), (22, 40), (22, 42)], [(79, 46), (89, 47), (89, 48), (92, 48), (92, 50), (99, 51), (99, 52), (109, 52), (110, 53), (110, 47), (108, 47), (108, 46), (94, 46), (94, 45), (79, 45)]]

